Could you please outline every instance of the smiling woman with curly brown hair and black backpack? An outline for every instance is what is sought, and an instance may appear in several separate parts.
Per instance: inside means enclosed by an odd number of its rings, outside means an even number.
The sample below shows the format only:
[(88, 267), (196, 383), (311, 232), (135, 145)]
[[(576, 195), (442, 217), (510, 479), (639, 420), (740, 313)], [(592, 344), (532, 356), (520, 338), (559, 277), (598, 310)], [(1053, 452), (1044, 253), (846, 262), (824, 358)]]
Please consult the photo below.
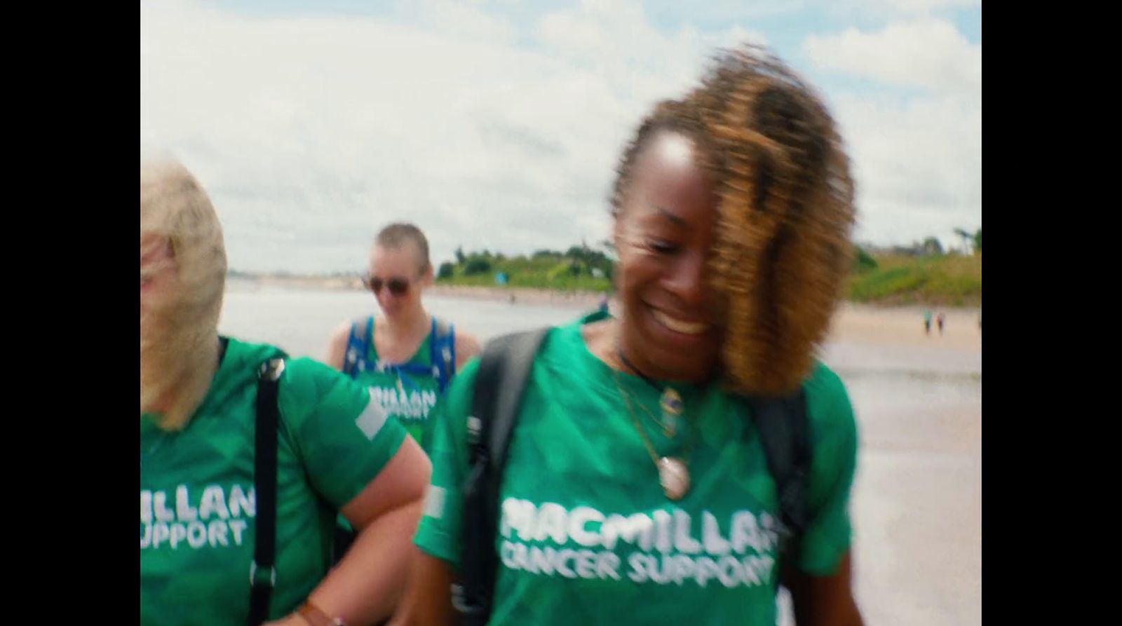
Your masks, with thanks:
[(643, 120), (611, 214), (619, 317), (491, 340), (438, 406), (392, 624), (774, 625), (782, 582), (799, 626), (859, 626), (856, 422), (815, 359), (854, 219), (825, 105), (721, 54)]

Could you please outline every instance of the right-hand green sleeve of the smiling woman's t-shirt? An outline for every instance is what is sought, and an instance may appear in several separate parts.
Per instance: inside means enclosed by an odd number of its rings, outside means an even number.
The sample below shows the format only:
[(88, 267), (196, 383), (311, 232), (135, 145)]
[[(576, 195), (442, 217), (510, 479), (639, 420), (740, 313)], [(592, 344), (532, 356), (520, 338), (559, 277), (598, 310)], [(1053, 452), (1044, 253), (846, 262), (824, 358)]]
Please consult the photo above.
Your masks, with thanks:
[(810, 522), (799, 569), (811, 576), (837, 572), (849, 550), (849, 491), (857, 466), (857, 422), (845, 385), (820, 365), (807, 384), (813, 462), (807, 497)]

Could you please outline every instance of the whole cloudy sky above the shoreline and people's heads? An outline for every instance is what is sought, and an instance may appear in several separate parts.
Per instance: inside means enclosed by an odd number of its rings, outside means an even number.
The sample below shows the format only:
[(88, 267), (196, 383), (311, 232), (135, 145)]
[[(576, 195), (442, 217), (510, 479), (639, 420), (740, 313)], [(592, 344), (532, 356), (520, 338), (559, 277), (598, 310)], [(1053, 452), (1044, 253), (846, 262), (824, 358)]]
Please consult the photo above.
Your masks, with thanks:
[(146, 0), (140, 140), (199, 176), (237, 269), (361, 270), (394, 220), (438, 263), (594, 245), (644, 112), (746, 40), (833, 109), (858, 241), (981, 225), (981, 0)]

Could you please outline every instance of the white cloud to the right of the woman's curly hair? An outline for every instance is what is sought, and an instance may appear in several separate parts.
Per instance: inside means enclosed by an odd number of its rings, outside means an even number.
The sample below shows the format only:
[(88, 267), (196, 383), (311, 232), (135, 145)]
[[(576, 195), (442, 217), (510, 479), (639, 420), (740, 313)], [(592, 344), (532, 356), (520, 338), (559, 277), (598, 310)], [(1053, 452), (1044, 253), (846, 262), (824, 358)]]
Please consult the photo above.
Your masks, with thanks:
[[(858, 236), (949, 238), (982, 217), (982, 47), (925, 18), (876, 33), (810, 36), (803, 50), (827, 72), (881, 83), (837, 91), (834, 109), (859, 183)], [(900, 96), (894, 88), (922, 88)]]

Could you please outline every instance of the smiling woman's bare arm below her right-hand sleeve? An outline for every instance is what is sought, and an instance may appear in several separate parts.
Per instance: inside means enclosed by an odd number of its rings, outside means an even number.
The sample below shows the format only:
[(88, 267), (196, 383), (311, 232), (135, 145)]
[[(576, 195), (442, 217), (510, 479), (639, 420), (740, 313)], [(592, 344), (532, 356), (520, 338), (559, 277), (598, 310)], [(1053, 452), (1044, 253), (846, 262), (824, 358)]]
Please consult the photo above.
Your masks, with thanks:
[(849, 553), (833, 576), (811, 576), (792, 568), (784, 572), (799, 626), (864, 626), (853, 598)]

